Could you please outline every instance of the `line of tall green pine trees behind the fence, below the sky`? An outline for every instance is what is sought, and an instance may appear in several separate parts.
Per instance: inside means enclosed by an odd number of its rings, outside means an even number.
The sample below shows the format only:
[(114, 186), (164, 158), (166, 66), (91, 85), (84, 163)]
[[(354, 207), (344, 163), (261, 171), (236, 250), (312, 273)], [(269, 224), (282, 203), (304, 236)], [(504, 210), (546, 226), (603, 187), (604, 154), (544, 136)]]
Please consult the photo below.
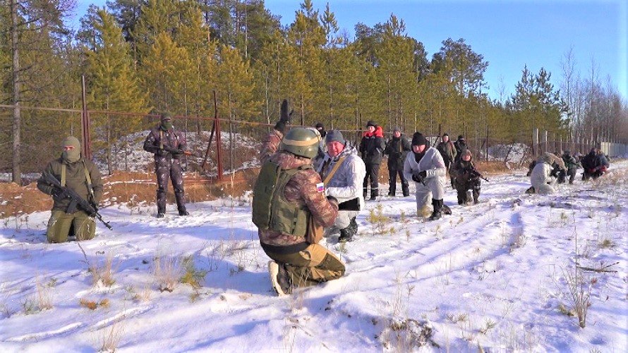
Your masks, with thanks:
[[(318, 11), (311, 0), (286, 26), (262, 0), (112, 0), (90, 6), (73, 32), (73, 0), (0, 4), (0, 104), (13, 106), (0, 109), (12, 126), (0, 131), (0, 143), (12, 146), (11, 165), (0, 167), (14, 180), (20, 153), (46, 149), (57, 143), (49, 139), (78, 128), (20, 105), (76, 108), (80, 75), (90, 109), (213, 116), (216, 90), (222, 118), (252, 122), (272, 122), (287, 98), (302, 125), (359, 129), (373, 119), (406, 132), (436, 132), (438, 124), (479, 136), (488, 129), (512, 142), (530, 142), (533, 128), (565, 140), (628, 142), (627, 104), (593, 63), (581, 77), (565, 54), (560, 87), (544, 68), (524, 67), (514, 94), (490, 99), (482, 54), (447, 38), (428, 57), (394, 14), (373, 27), (357, 23), (349, 37), (330, 4)], [(107, 116), (92, 128), (107, 147), (140, 123)]]

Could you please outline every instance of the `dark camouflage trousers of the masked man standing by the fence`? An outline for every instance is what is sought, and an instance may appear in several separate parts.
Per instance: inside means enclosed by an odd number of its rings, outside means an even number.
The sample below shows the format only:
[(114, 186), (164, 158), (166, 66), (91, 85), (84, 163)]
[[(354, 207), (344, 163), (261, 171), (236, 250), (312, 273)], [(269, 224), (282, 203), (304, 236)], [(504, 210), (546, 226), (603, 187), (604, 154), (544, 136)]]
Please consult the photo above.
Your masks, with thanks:
[(161, 157), (155, 161), (157, 174), (157, 213), (166, 213), (166, 192), (168, 180), (172, 180), (174, 198), (179, 212), (186, 211), (185, 191), (183, 190), (183, 170), (179, 159)]

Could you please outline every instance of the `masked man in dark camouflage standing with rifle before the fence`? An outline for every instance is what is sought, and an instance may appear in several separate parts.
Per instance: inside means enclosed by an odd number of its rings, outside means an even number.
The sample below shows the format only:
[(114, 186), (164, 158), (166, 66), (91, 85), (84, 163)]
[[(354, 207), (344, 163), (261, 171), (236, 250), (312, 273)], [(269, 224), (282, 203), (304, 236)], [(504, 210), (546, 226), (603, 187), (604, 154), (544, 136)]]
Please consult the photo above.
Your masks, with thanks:
[[(176, 207), (179, 216), (188, 216), (185, 192), (183, 190), (183, 170), (181, 156), (186, 154), (186, 137), (174, 129), (172, 117), (163, 113), (161, 124), (150, 130), (144, 141), (144, 150), (155, 154), (155, 174), (157, 174), (157, 218), (166, 213), (166, 192), (168, 179), (172, 180)], [(189, 152), (188, 152), (189, 154)]]

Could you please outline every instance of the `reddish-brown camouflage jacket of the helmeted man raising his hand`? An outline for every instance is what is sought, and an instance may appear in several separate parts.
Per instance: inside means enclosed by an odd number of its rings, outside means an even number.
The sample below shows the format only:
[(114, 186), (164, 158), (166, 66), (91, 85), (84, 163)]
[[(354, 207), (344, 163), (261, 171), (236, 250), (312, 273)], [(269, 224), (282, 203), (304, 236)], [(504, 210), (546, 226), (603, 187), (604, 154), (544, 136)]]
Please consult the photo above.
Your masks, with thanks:
[[(287, 151), (277, 151), (281, 142), (281, 132), (273, 130), (266, 137), (262, 147), (262, 163), (272, 161), (284, 169), (294, 169), (312, 163), (311, 159), (295, 156)], [(271, 153), (270, 155), (267, 155)], [(325, 197), (324, 190), (318, 190), (317, 184), (322, 182), (320, 175), (313, 169), (307, 169), (296, 173), (284, 188), (284, 197), (289, 202), (307, 207), (314, 222), (328, 228), (334, 224), (338, 214), (338, 204), (330, 202)], [(274, 230), (258, 230), (260, 242), (275, 246), (287, 246), (298, 244), (304, 241), (303, 237), (282, 234)]]

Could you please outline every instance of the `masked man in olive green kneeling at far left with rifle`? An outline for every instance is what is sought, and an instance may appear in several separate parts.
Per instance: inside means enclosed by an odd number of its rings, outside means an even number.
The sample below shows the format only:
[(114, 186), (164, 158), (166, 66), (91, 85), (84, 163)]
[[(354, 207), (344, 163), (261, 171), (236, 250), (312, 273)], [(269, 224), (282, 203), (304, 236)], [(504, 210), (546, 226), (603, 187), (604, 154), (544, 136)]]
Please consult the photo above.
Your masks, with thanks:
[(66, 138), (61, 147), (61, 157), (48, 163), (42, 178), (37, 180), (37, 188), (54, 200), (46, 236), (49, 242), (66, 242), (68, 235), (76, 235), (76, 240), (90, 240), (96, 235), (93, 217), (102, 197), (100, 172), (92, 161), (80, 155), (76, 137)]

